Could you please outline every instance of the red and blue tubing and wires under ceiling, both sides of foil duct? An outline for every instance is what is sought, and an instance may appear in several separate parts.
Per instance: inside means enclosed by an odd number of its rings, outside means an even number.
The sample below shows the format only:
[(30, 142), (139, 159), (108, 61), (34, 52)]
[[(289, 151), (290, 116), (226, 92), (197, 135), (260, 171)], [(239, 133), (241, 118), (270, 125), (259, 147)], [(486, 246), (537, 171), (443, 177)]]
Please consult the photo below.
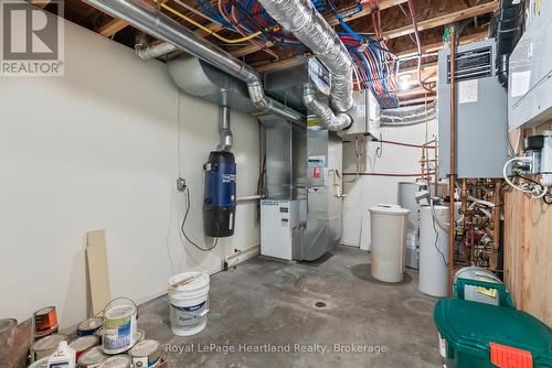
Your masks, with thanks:
[[(179, 2), (178, 0), (174, 0)], [(283, 32), (279, 25), (270, 18), (257, 0), (219, 0), (213, 7), (209, 0), (195, 0), (205, 15), (226, 30), (240, 33), (243, 37), (229, 42), (227, 39), (211, 32), (222, 42), (236, 44), (237, 41), (248, 41), (261, 50), (277, 58), (277, 54), (269, 50), (266, 41), (280, 46), (299, 46), (301, 43), (291, 34)], [(331, 0), (311, 0), (314, 7), (322, 12), (330, 12), (339, 20), (346, 32), (338, 36), (348, 48), (354, 65), (357, 89), (370, 89), (382, 108), (399, 106), (395, 91), (397, 88), (397, 61), (382, 37), (379, 10), (372, 9), (372, 22), (376, 39), (355, 33), (343, 19), (362, 10), (358, 3), (352, 10), (339, 13)], [(169, 7), (163, 7), (169, 8)], [(198, 24), (194, 24), (198, 26)], [(202, 28), (201, 24), (199, 28)]]

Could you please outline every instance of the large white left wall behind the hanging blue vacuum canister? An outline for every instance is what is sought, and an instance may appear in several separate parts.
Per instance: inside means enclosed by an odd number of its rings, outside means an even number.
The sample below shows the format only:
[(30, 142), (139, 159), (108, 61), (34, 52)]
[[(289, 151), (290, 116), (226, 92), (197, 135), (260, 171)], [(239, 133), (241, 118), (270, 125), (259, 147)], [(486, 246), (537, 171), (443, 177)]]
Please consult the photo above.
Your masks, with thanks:
[[(254, 204), (236, 235), (203, 253), (182, 241), (178, 90), (164, 65), (66, 22), (65, 77), (0, 78), (0, 317), (56, 305), (61, 327), (86, 317), (85, 232), (106, 229), (112, 295), (144, 302), (185, 270), (259, 241)], [(204, 241), (201, 167), (217, 143), (217, 108), (181, 97), (180, 171), (192, 190), (187, 228)], [(238, 196), (258, 175), (258, 127), (233, 112)]]

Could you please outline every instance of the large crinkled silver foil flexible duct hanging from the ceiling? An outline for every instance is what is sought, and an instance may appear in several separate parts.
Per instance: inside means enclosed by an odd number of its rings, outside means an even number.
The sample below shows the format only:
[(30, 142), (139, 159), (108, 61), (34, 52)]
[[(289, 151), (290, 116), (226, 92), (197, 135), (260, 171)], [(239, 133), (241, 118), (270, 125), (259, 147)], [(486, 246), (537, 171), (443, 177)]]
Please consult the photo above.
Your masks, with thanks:
[[(309, 47), (330, 72), (331, 105), (337, 113), (333, 113), (333, 111), (329, 113), (321, 108), (321, 102), (314, 98), (314, 101), (318, 102), (316, 104), (317, 111), (323, 112), (319, 118), (328, 126), (328, 129), (340, 130), (350, 126), (352, 120), (344, 112), (349, 111), (354, 105), (352, 98), (353, 66), (349, 52), (333, 29), (310, 1), (259, 0), (259, 2), (272, 18)], [(307, 99), (310, 98), (307, 97)], [(315, 106), (315, 102), (310, 102)]]

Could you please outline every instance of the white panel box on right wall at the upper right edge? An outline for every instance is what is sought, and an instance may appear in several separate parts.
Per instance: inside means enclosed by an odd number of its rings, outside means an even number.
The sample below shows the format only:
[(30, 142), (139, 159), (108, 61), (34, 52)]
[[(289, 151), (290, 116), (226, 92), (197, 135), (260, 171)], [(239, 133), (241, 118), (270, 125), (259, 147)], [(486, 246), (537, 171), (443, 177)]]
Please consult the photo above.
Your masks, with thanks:
[(530, 1), (528, 25), (510, 55), (510, 130), (552, 119), (552, 3)]

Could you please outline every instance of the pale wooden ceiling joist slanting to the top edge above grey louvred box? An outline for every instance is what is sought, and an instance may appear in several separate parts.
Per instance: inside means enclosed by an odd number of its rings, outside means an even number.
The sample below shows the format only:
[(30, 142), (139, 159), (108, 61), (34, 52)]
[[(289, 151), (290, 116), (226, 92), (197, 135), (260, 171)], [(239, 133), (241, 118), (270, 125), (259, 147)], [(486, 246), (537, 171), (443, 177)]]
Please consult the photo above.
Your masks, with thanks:
[[(429, 30), (436, 26), (446, 25), (449, 23), (458, 22), (465, 19), (474, 18), (477, 15), (487, 14), (498, 10), (499, 1), (495, 0), (480, 6), (471, 7), (469, 9), (464, 9), (456, 11), (454, 13), (427, 19), (425, 21), (417, 22), (418, 31)], [(412, 24), (399, 28), (396, 30), (383, 32), (383, 36), (388, 40), (401, 37), (403, 35), (408, 35), (414, 33), (414, 28)]]

